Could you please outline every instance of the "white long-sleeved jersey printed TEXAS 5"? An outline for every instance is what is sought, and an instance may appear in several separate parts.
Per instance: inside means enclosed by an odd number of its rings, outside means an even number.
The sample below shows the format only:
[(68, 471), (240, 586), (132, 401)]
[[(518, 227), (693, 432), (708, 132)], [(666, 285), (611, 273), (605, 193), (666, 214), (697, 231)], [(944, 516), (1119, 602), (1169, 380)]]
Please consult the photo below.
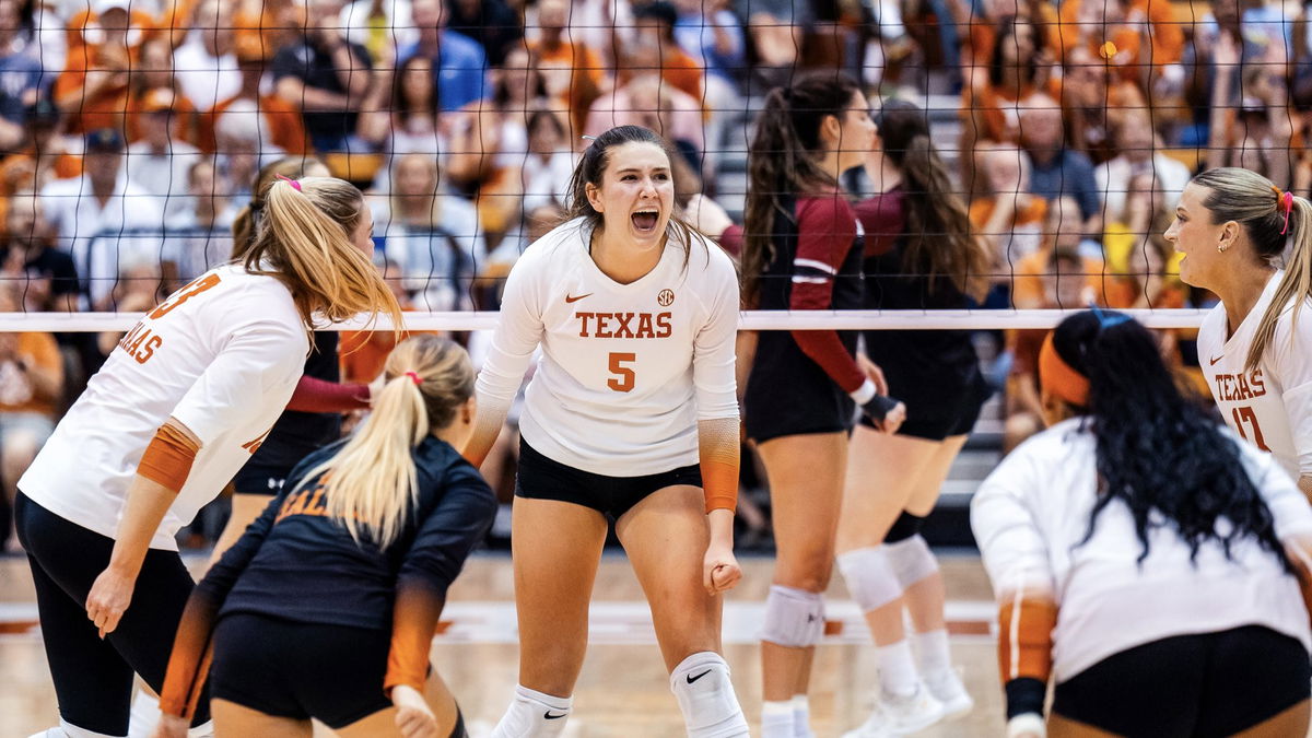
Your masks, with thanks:
[(510, 271), (501, 319), (479, 373), (479, 402), (509, 407), (533, 351), (520, 432), (543, 456), (609, 477), (698, 462), (697, 422), (737, 418), (733, 263), (694, 236), (622, 285), (588, 251), (583, 219), (525, 250)]

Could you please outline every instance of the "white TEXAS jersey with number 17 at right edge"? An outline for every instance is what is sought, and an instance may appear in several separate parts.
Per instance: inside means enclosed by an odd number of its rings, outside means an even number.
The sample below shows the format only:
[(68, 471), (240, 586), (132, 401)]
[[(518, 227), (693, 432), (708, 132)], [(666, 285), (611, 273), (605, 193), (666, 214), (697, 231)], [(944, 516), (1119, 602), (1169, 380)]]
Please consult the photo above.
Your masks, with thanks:
[(1312, 301), (1281, 314), (1275, 335), (1257, 369), (1244, 372), (1248, 349), (1271, 303), (1283, 272), (1277, 272), (1253, 310), (1225, 337), (1225, 306), (1218, 305), (1198, 331), (1198, 365), (1221, 411), (1236, 433), (1271, 452), (1295, 478), (1312, 475)]

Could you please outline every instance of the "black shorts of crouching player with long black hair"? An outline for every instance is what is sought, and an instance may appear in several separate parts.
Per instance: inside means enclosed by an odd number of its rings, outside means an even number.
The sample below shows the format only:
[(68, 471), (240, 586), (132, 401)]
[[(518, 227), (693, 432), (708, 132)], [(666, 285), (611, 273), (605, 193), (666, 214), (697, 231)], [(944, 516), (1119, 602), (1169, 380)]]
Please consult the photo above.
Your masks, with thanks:
[(1250, 625), (1107, 657), (1056, 685), (1052, 712), (1127, 738), (1220, 738), (1308, 699), (1295, 638)]

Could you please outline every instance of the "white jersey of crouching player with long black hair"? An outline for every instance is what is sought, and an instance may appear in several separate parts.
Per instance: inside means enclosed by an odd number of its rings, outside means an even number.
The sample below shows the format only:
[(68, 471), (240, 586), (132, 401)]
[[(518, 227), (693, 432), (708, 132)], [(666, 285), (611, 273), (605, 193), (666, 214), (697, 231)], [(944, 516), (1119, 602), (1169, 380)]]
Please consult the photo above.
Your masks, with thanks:
[[(1097, 502), (1096, 440), (1084, 423), (1065, 420), (1027, 440), (971, 500), (971, 527), (994, 592), (1051, 590), (1056, 597), (1059, 683), (1126, 649), (1244, 625), (1263, 625), (1312, 647), (1298, 580), (1253, 538), (1231, 548), (1232, 561), (1208, 541), (1190, 562), (1174, 528), (1156, 527), (1140, 563), (1134, 516), (1113, 500), (1081, 544)], [(1237, 445), (1277, 537), (1312, 533), (1312, 507), (1288, 475), (1269, 454)]]

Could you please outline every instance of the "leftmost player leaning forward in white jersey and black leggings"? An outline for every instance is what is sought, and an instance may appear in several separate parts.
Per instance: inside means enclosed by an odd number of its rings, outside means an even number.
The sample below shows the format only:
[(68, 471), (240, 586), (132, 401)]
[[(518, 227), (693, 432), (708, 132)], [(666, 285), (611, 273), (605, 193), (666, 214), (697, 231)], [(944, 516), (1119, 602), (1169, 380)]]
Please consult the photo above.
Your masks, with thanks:
[[(400, 310), (367, 253), (359, 190), (276, 184), (241, 264), (133, 328), (18, 481), (16, 520), (59, 697), (51, 735), (123, 735), (133, 672), (164, 679), (192, 591), (174, 534), (260, 446), (312, 320)], [(197, 725), (207, 721), (197, 710)]]

